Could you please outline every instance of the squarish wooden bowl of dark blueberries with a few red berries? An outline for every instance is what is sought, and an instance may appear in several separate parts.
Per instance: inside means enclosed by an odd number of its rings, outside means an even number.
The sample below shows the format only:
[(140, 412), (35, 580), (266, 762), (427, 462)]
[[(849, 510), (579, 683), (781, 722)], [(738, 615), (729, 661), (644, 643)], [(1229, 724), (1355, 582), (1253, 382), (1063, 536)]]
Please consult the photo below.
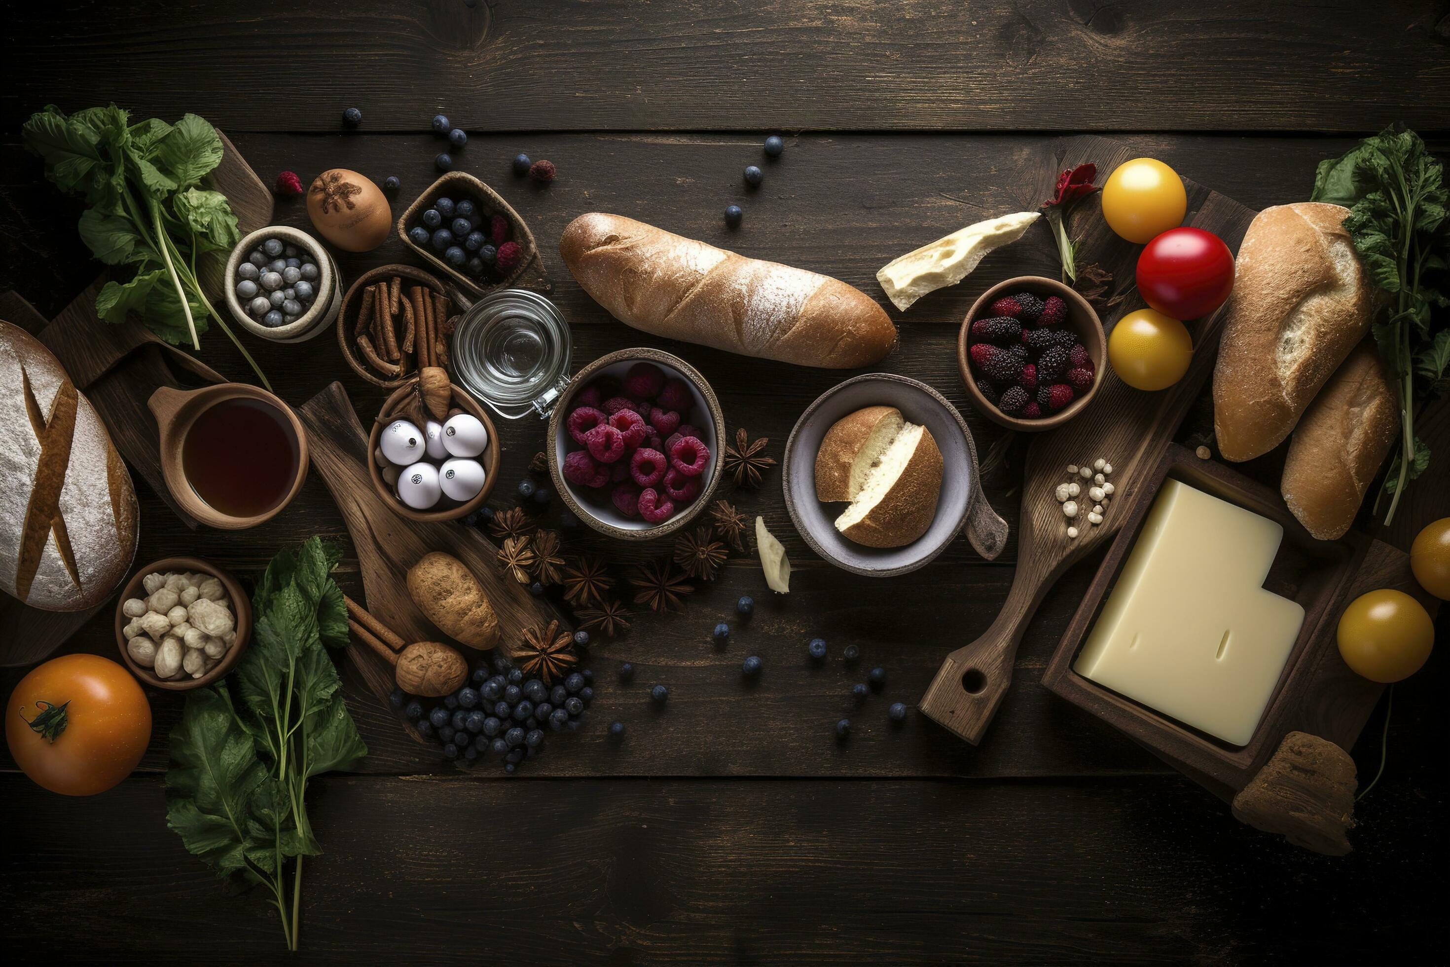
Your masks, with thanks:
[(397, 235), (465, 293), (552, 290), (534, 233), (508, 202), (471, 174), (450, 171), (434, 181), (403, 212)]

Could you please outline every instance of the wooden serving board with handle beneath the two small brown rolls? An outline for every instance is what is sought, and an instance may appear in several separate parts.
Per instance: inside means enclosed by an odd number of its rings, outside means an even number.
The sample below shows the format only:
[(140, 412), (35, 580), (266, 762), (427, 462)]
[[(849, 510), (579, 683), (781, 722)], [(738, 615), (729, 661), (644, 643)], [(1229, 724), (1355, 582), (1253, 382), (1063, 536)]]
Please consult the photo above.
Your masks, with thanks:
[[(407, 568), (429, 551), (452, 554), (473, 571), (493, 605), (505, 641), (551, 621), (564, 623), (548, 602), (534, 597), (499, 571), (497, 548), (476, 528), (407, 520), (384, 503), (368, 473), (367, 433), (341, 383), (332, 383), (303, 403), (297, 416), (307, 428), (312, 467), (332, 491), (352, 535), (362, 573), (364, 607), (403, 641), (450, 641), (423, 618), (407, 593)], [(470, 648), (460, 647), (460, 651), (470, 663), (477, 658)], [(387, 703), (394, 686), (393, 665), (357, 642), (348, 645), (347, 654), (368, 689)], [(412, 725), (407, 731), (423, 741)]]

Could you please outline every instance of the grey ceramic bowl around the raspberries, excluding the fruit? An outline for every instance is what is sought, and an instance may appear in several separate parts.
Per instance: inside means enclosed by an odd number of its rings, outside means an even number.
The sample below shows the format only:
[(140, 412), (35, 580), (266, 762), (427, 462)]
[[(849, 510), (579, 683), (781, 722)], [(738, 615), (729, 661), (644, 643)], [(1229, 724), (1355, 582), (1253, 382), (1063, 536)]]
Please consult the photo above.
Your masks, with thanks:
[[(608, 496), (603, 502), (593, 496), (583, 496), (574, 484), (564, 480), (564, 474), (560, 471), (560, 465), (564, 462), (564, 455), (571, 448), (576, 448), (574, 441), (568, 436), (568, 431), (564, 429), (564, 422), (568, 419), (570, 409), (573, 409), (574, 396), (597, 375), (624, 377), (629, 367), (635, 362), (654, 362), (657, 367), (664, 370), (667, 375), (676, 375), (684, 380), (690, 386), (690, 393), (695, 397), (695, 404), (690, 407), (692, 412), (697, 416), (703, 413), (709, 415), (709, 425), (699, 428), (709, 435), (709, 439), (703, 442), (710, 448), (710, 461), (705, 467), (705, 473), (700, 474), (705, 478), (705, 487), (700, 490), (700, 496), (695, 499), (695, 503), (686, 507), (683, 513), (674, 515), (664, 523), (632, 520), (619, 513), (613, 503), (609, 502)], [(710, 499), (715, 496), (715, 490), (719, 487), (721, 476), (725, 471), (724, 448), (725, 415), (721, 412), (721, 403), (715, 397), (715, 390), (712, 390), (710, 384), (705, 381), (705, 377), (677, 355), (671, 355), (660, 349), (638, 348), (619, 349), (618, 352), (602, 355), (574, 375), (568, 387), (560, 394), (558, 402), (554, 404), (554, 412), (550, 415), (548, 445), (545, 452), (548, 454), (548, 473), (550, 477), (554, 478), (554, 489), (580, 520), (612, 538), (619, 538), (622, 541), (651, 541), (667, 534), (674, 534), (693, 520), (700, 510), (709, 505)]]

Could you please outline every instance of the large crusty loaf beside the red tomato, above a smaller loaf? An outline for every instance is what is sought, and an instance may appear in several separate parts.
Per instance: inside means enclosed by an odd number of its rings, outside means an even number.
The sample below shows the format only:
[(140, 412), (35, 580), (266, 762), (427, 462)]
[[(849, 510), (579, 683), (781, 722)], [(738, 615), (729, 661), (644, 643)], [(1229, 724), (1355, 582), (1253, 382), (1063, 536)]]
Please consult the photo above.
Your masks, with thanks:
[(1225, 460), (1266, 454), (1364, 333), (1373, 309), (1348, 209), (1305, 202), (1248, 225), (1214, 367), (1214, 429)]

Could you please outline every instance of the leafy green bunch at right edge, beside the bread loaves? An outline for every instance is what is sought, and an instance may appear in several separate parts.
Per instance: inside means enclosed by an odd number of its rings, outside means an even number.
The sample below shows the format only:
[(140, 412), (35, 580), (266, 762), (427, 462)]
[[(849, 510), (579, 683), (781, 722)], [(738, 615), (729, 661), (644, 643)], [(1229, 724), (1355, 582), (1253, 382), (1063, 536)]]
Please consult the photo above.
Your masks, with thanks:
[[(1444, 167), (1412, 130), (1391, 126), (1340, 158), (1320, 162), (1311, 202), (1350, 209), (1344, 219), (1364, 273), (1386, 293), (1375, 342), (1399, 394), (1401, 441), (1380, 489), (1388, 525), (1411, 480), (1430, 465), (1415, 438), (1418, 409), (1450, 389), (1450, 193)], [(1379, 510), (1379, 497), (1375, 500)]]

